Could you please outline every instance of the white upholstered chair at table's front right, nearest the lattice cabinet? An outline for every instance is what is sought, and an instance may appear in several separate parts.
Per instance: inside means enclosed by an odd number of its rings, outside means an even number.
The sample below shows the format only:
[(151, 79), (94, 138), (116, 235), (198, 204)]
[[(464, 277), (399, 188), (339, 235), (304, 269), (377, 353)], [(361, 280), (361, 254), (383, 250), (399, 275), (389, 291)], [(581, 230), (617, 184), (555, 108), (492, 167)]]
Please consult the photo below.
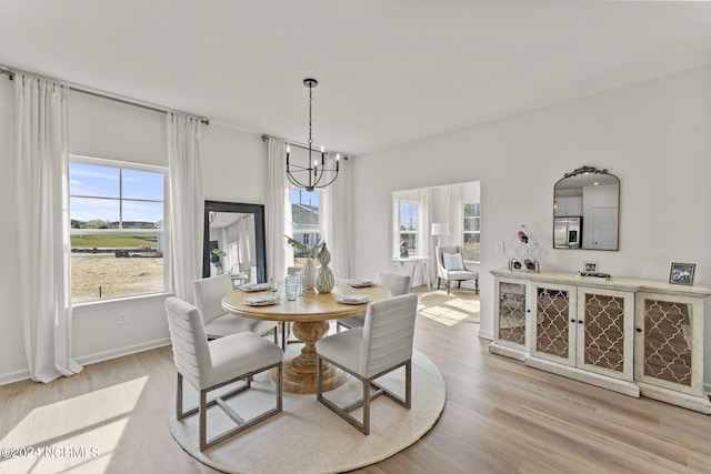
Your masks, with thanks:
[[(316, 344), (317, 400), (333, 413), (370, 433), (370, 402), (387, 395), (410, 409), (412, 405), (412, 344), (418, 296), (403, 294), (370, 303), (363, 327), (336, 333)], [(363, 384), (362, 399), (341, 407), (323, 395), (323, 361), (346, 371)], [(397, 369), (404, 367), (404, 396), (400, 396), (374, 382)], [(371, 385), (377, 391), (371, 395)], [(363, 407), (362, 421), (350, 414)]]

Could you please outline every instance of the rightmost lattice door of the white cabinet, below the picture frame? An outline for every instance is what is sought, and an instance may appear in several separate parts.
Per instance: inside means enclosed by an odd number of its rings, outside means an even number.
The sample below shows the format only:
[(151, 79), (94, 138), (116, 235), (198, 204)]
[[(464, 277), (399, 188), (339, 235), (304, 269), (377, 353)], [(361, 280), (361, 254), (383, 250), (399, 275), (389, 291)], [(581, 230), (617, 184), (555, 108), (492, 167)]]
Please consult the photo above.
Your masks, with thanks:
[(634, 379), (693, 396), (703, 390), (703, 300), (637, 293)]

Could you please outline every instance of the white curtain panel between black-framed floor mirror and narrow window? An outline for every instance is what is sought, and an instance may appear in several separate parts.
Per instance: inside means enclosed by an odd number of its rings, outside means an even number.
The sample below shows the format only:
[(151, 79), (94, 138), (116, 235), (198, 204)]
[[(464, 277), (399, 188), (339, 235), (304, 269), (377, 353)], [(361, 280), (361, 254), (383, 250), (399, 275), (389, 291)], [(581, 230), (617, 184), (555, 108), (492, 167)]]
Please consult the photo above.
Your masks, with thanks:
[(293, 254), (287, 253), (287, 239), (291, 235), (291, 204), (287, 185), (287, 142), (269, 139), (267, 163), (267, 204), (264, 205), (264, 226), (267, 233), (267, 278), (283, 279), (287, 266), (293, 265)]

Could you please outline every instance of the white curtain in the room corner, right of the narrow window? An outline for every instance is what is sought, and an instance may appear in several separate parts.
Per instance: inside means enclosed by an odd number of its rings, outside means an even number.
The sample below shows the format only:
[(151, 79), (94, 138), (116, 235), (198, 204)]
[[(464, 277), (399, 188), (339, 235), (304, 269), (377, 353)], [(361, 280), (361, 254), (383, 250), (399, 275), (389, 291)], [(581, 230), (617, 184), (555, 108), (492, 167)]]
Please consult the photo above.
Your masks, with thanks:
[[(327, 168), (336, 168), (336, 153), (327, 155)], [(331, 252), (329, 268), (337, 279), (351, 278), (351, 200), (350, 174), (346, 161), (341, 161), (340, 172), (336, 181), (323, 192), (323, 215), (326, 244)]]

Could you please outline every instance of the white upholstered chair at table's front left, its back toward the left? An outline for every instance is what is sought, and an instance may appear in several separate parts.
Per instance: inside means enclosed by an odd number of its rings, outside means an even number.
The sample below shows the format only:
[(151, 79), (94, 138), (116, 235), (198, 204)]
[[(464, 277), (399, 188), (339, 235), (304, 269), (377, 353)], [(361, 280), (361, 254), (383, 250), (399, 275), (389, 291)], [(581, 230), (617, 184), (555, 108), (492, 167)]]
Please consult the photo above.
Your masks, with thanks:
[[(168, 327), (173, 347), (173, 360), (178, 370), (176, 392), (176, 417), (182, 420), (194, 413), (199, 416), (200, 451), (252, 426), (282, 410), (282, 357), (281, 349), (253, 332), (240, 332), (208, 341), (200, 311), (177, 297), (166, 300)], [(246, 420), (226, 400), (251, 387), (252, 377), (260, 372), (277, 369), (276, 406)], [(183, 379), (199, 392), (198, 406), (183, 412)], [(208, 401), (213, 390), (232, 383), (238, 387)], [(236, 426), (208, 440), (207, 412), (218, 405)]]

